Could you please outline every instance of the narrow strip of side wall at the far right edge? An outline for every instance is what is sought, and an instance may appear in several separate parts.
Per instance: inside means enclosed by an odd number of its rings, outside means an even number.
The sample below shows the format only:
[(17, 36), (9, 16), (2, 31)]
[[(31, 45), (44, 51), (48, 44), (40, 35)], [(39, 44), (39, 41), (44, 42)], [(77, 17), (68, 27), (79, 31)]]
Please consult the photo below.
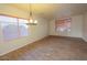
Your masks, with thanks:
[(84, 14), (83, 39), (87, 42), (87, 13)]

